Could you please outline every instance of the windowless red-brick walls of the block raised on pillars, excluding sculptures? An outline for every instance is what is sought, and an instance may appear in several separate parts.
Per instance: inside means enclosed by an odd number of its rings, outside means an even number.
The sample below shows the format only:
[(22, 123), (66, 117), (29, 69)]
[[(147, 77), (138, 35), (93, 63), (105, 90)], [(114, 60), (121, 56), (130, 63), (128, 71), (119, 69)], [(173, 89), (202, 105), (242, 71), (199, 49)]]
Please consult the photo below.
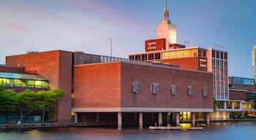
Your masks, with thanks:
[[(74, 68), (75, 108), (194, 108), (213, 109), (211, 73), (187, 71), (132, 63), (101, 63)], [(139, 82), (139, 93), (132, 93), (133, 82)], [(159, 93), (151, 93), (158, 83)], [(176, 96), (170, 85), (176, 85)], [(188, 96), (188, 86), (193, 88)], [(203, 97), (203, 87), (208, 96)]]

